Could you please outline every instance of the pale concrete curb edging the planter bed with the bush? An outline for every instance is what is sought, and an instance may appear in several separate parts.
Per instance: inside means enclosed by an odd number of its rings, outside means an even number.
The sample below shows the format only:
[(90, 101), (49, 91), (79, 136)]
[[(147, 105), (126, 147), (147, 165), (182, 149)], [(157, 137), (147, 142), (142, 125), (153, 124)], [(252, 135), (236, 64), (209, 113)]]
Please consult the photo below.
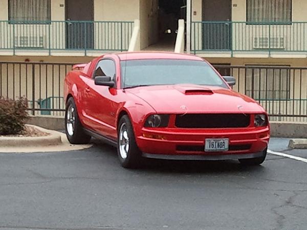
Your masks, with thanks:
[(47, 136), (35, 137), (0, 137), (0, 146), (2, 147), (31, 147), (31, 146), (51, 146), (62, 143), (61, 135), (58, 132), (40, 128), (35, 125), (27, 125), (38, 129), (39, 131), (49, 133)]

